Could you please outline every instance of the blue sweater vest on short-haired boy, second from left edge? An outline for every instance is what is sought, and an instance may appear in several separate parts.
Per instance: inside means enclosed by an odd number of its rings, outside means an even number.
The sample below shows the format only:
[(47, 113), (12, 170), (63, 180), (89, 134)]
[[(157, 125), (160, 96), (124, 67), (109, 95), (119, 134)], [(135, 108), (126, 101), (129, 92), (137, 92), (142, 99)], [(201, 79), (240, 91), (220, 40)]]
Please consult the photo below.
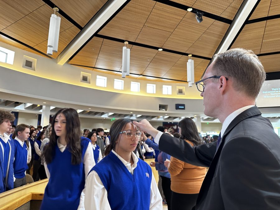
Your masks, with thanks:
[(27, 166), (27, 146), (26, 143), (21, 144), (14, 140), (15, 143), (15, 160), (14, 160), (14, 176), (16, 179), (21, 179), (25, 176), (25, 171), (28, 169)]

